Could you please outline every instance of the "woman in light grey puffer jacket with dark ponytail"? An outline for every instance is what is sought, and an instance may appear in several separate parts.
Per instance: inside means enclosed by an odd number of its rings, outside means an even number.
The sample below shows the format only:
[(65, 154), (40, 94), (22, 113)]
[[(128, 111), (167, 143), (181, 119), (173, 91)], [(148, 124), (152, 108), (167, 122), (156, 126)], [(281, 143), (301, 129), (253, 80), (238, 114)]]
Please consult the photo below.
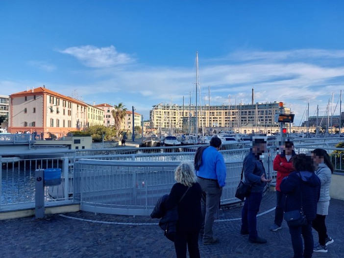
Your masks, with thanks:
[(313, 220), (312, 227), (318, 232), (319, 244), (316, 244), (313, 251), (327, 253), (327, 245), (332, 244), (334, 240), (327, 235), (325, 218), (328, 214), (328, 207), (330, 205), (330, 184), (333, 173), (333, 165), (330, 156), (326, 150), (315, 149), (312, 151), (312, 158), (316, 166), (316, 175), (320, 179), (320, 198), (317, 204), (317, 216)]

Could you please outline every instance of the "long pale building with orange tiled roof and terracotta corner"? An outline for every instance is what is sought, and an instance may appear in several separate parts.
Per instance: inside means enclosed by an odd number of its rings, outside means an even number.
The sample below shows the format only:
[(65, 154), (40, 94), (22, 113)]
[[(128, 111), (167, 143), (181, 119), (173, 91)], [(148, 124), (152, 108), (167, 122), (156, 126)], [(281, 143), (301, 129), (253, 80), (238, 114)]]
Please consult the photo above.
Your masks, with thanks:
[(10, 95), (8, 132), (37, 130), (38, 134), (44, 133), (44, 138), (48, 138), (49, 133), (61, 137), (89, 126), (89, 108), (95, 115), (91, 123), (97, 120), (102, 123), (103, 115), (98, 108), (91, 110), (91, 105), (45, 87), (27, 89)]

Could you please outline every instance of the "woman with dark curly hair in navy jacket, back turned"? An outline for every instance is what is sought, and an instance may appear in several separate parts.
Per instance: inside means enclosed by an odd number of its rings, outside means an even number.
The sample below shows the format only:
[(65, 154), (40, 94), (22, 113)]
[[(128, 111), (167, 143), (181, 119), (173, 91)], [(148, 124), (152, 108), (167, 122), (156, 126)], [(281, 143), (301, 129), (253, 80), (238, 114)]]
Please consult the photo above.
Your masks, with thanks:
[[(294, 258), (311, 258), (313, 254), (312, 221), (317, 216), (317, 203), (320, 196), (320, 180), (314, 173), (313, 160), (306, 154), (293, 158), (295, 171), (285, 177), (280, 185), (287, 195), (285, 211), (303, 210), (306, 223), (300, 226), (289, 226), (292, 238)], [(302, 238), (304, 240), (304, 248)]]

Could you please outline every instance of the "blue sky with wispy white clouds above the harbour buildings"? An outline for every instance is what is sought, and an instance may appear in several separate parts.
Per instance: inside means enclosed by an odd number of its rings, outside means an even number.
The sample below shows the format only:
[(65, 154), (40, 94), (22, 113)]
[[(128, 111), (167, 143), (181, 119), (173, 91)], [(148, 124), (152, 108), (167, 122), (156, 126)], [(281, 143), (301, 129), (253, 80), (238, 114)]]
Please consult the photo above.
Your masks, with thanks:
[[(0, 94), (45, 85), (149, 118), (158, 103), (282, 101), (339, 115), (343, 0), (0, 0)], [(210, 91), (210, 96), (209, 96)], [(342, 105), (343, 106), (343, 105)], [(342, 109), (342, 111), (344, 111)]]

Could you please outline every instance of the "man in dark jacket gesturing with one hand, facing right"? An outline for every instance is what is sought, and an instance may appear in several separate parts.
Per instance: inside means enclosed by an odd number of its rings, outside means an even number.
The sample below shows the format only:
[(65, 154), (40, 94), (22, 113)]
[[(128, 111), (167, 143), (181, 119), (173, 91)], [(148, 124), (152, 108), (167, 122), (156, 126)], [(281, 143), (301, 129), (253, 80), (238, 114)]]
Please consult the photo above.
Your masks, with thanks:
[(245, 182), (252, 185), (251, 194), (246, 197), (244, 207), (241, 213), (242, 235), (248, 235), (251, 243), (264, 244), (265, 238), (258, 236), (257, 232), (257, 213), (263, 198), (263, 190), (271, 179), (265, 178), (265, 168), (260, 160), (261, 156), (267, 150), (267, 141), (265, 138), (254, 137), (252, 139), (252, 148), (244, 158), (243, 169)]

